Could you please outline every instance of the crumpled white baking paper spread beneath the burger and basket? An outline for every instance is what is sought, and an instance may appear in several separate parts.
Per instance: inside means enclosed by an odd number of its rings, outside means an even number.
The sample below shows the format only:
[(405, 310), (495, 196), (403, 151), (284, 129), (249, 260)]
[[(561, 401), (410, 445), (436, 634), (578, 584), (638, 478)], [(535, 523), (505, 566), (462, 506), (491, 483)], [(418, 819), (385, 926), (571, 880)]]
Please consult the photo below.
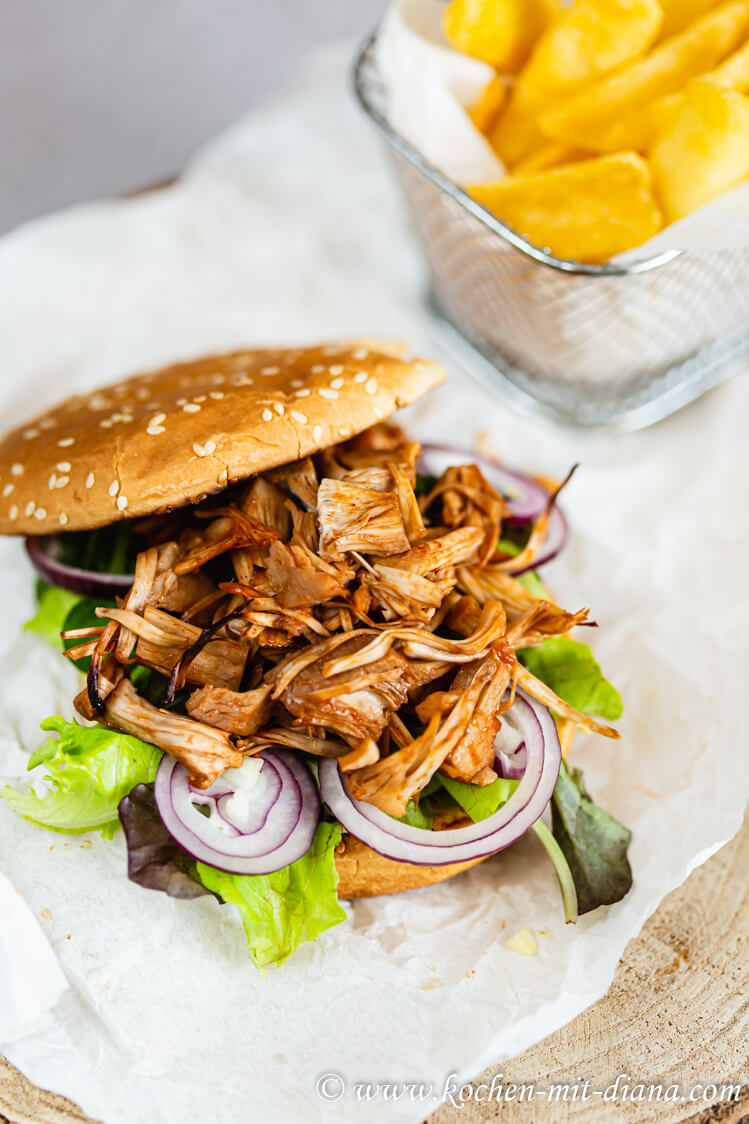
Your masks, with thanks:
[[(3, 424), (209, 348), (381, 334), (440, 355), (349, 60), (321, 55), (175, 188), (0, 243)], [(262, 976), (231, 907), (141, 889), (121, 839), (49, 834), (0, 805), (0, 868), (70, 985), (46, 1026), (3, 1043), (10, 1060), (106, 1124), (417, 1122), (449, 1075), (499, 1064), (604, 995), (626, 942), (746, 805), (748, 410), (739, 377), (644, 433), (568, 433), (518, 419), (452, 365), (403, 419), (423, 438), (482, 433), (538, 471), (581, 462), (565, 498), (571, 540), (547, 577), (566, 605), (592, 607), (625, 700), (622, 741), (584, 738), (574, 755), (633, 830), (625, 900), (566, 927), (529, 839), (457, 881), (352, 906)], [(19, 542), (0, 542), (0, 773), (17, 774), (36, 724), (70, 713), (72, 672), (33, 637), (18, 644), (33, 584)], [(521, 926), (533, 958), (503, 943)], [(0, 995), (0, 1019), (9, 1010)], [(340, 1099), (316, 1093), (326, 1073), (342, 1078)], [(358, 1103), (362, 1081), (431, 1084), (434, 1098)]]

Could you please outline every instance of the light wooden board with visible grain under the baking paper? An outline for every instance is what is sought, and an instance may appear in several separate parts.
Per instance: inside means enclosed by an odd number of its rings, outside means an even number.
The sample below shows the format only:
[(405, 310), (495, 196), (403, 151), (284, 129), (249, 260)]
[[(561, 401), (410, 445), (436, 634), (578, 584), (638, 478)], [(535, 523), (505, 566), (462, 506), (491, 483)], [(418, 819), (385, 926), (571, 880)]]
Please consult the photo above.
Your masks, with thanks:
[[(590, 1081), (605, 1089), (743, 1084), (737, 1103), (568, 1100), (443, 1106), (430, 1124), (746, 1124), (749, 1122), (749, 814), (737, 837), (674, 890), (628, 945), (608, 994), (572, 1023), (475, 1085)], [(701, 1094), (700, 1094), (701, 1095)], [(314, 1094), (310, 1090), (310, 1096)], [(2, 1124), (91, 1124), (0, 1058)], [(145, 1124), (145, 1122), (144, 1122)]]

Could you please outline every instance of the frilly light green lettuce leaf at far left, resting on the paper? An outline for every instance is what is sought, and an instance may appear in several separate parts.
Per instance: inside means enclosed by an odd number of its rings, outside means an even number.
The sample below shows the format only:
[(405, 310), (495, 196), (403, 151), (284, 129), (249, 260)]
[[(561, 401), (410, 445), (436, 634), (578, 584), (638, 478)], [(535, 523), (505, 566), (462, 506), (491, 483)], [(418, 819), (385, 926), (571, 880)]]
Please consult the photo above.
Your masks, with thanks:
[(54, 731), (29, 758), (28, 768), (44, 763), (48, 789), (37, 795), (30, 786), (0, 788), (0, 798), (25, 819), (53, 832), (96, 828), (111, 839), (119, 824), (117, 806), (135, 785), (152, 781), (161, 750), (106, 726), (81, 726), (58, 715), (42, 729)]

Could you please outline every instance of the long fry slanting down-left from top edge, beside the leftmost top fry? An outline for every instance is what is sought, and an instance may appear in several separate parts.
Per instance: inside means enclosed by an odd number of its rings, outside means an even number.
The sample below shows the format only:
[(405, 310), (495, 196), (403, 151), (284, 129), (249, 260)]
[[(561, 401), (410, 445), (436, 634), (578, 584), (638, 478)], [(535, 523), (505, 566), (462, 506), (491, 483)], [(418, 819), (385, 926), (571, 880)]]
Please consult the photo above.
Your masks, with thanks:
[(565, 9), (535, 44), (491, 134), (504, 163), (513, 167), (540, 146), (535, 118), (545, 106), (644, 54), (662, 18), (658, 0), (577, 0)]

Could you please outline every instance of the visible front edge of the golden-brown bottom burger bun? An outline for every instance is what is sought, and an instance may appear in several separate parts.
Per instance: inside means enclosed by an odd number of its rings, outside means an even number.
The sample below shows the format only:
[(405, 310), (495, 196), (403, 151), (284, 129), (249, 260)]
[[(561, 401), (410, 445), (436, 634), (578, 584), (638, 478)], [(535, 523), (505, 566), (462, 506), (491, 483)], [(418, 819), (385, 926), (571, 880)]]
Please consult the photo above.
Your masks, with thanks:
[(419, 886), (434, 886), (475, 867), (482, 859), (455, 862), (448, 867), (418, 867), (410, 862), (395, 862), (378, 854), (353, 835), (344, 835), (335, 851), (339, 872), (340, 898), (373, 898), (381, 894), (416, 890)]

